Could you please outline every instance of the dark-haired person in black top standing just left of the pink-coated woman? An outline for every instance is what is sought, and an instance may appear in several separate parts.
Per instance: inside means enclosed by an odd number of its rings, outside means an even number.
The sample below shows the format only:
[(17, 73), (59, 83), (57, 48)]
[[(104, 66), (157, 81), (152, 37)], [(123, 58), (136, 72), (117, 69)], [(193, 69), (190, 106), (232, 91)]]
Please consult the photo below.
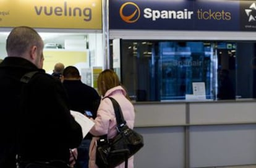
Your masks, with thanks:
[[(79, 70), (74, 66), (68, 66), (63, 71), (63, 85), (67, 90), (70, 109), (85, 114), (85, 111), (92, 112), (92, 117), (96, 117), (100, 96), (91, 86), (82, 83)], [(77, 164), (80, 168), (88, 168), (89, 147), (92, 135), (88, 133), (79, 148), (77, 148)]]

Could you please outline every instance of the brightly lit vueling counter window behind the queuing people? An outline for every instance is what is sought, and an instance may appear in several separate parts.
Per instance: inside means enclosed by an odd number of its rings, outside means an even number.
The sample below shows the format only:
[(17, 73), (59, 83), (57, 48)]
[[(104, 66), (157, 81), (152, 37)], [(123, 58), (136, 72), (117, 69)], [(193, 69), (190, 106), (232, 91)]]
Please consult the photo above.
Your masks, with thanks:
[[(79, 69), (81, 80), (96, 88), (98, 71), (103, 69), (103, 33), (69, 32), (62, 30), (38, 31), (45, 43), (43, 69), (53, 73), (54, 65), (61, 62), (65, 67), (73, 65)], [(6, 38), (9, 32), (0, 33), (0, 59), (7, 56)], [(97, 71), (97, 73), (96, 73)]]

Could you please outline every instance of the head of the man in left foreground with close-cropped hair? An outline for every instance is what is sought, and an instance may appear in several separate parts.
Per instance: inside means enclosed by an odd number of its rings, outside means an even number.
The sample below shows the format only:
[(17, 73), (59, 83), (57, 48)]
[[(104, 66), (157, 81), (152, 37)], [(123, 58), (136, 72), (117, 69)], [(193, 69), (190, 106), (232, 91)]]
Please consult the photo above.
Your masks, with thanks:
[(38, 68), (43, 68), (43, 40), (30, 27), (15, 27), (6, 40), (8, 57), (23, 57)]

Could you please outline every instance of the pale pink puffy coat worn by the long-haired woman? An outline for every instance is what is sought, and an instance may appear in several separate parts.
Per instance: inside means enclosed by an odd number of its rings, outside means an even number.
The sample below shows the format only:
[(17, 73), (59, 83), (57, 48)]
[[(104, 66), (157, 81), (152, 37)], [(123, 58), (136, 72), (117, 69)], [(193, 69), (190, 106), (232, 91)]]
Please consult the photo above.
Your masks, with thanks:
[[(105, 94), (106, 96), (112, 97), (116, 99), (119, 103), (119, 106), (122, 109), (122, 114), (124, 115), (124, 120), (126, 120), (129, 128), (134, 128), (134, 106), (130, 101), (125, 97), (126, 91), (121, 86), (116, 86), (110, 90), (108, 90)], [(96, 119), (94, 120), (95, 125), (90, 130), (90, 133), (94, 136), (101, 136), (108, 134), (108, 138), (113, 138), (116, 136), (116, 116), (114, 114), (114, 108), (111, 100), (109, 98), (101, 99), (100, 106), (97, 111)], [(97, 168), (95, 164), (95, 156), (96, 156), (96, 145), (95, 141), (97, 137), (93, 137), (90, 145), (89, 151), (89, 167)], [(118, 168), (123, 168), (124, 163), (122, 163)], [(134, 158), (133, 156), (129, 158), (128, 167), (134, 167)]]

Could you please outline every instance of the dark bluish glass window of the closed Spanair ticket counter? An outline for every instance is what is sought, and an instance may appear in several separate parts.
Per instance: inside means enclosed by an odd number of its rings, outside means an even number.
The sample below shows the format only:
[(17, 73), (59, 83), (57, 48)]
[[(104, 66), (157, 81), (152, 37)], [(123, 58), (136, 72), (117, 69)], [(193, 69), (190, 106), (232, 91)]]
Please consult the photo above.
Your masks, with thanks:
[(121, 81), (135, 101), (254, 98), (254, 41), (121, 40)]

